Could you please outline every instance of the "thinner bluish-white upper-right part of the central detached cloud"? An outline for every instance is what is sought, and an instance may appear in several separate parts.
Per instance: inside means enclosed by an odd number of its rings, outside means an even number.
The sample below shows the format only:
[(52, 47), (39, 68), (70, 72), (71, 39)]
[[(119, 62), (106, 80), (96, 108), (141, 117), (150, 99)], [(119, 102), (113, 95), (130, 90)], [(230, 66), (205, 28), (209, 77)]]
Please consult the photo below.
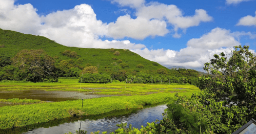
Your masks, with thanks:
[(146, 19), (167, 19), (167, 23), (171, 24), (174, 28), (175, 33), (173, 37), (175, 38), (181, 37), (181, 34), (177, 33), (179, 29), (185, 31), (189, 27), (199, 26), (201, 22), (213, 20), (203, 9), (196, 9), (193, 16), (183, 16), (182, 11), (175, 5), (160, 4), (157, 2), (149, 3), (147, 6), (143, 6), (137, 10), (136, 15)]

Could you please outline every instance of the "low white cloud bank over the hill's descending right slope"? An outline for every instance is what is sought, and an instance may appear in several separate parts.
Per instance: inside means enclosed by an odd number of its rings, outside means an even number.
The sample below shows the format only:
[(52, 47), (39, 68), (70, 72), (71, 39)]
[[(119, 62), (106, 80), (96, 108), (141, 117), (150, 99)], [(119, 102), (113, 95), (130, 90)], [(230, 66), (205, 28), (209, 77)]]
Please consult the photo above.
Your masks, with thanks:
[[(202, 35), (200, 38), (193, 38), (187, 42), (187, 48), (179, 51), (173, 50), (132, 50), (140, 54), (146, 59), (159, 62), (165, 66), (184, 66), (186, 68), (203, 71), (204, 63), (213, 59), (214, 54), (221, 52), (227, 53), (230, 57), (231, 51), (234, 46), (239, 46), (241, 43), (238, 41), (241, 36), (249, 36), (256, 38), (255, 34), (250, 32), (230, 32), (230, 30), (215, 28), (209, 33)], [(254, 50), (249, 50), (254, 53)]]

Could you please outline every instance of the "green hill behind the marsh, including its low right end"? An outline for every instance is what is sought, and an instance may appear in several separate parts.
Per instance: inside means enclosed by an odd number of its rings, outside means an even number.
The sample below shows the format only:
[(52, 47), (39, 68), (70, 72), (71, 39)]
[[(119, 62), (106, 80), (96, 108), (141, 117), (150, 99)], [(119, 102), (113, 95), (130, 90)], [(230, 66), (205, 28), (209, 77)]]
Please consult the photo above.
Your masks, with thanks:
[[(24, 49), (43, 49), (49, 56), (55, 59), (56, 65), (63, 60), (69, 60), (69, 62), (75, 62), (76, 66), (83, 69), (86, 64), (90, 63), (93, 66), (97, 66), (101, 74), (111, 74), (114, 72), (114, 65), (123, 64), (124, 66), (121, 65), (123, 67), (121, 70), (125, 71), (126, 75), (137, 75), (139, 73), (161, 75), (161, 73), (157, 73), (157, 70), (160, 68), (167, 71), (165, 74), (167, 76), (197, 77), (198, 75), (198, 72), (194, 70), (169, 70), (159, 63), (147, 60), (126, 49), (114, 49), (114, 51), (120, 52), (120, 55), (116, 56), (114, 52), (110, 52), (110, 49), (66, 47), (43, 36), (0, 29), (0, 57), (12, 58)], [(64, 55), (64, 51), (74, 51), (77, 53), (77, 56)], [(128, 66), (126, 66), (127, 64)]]

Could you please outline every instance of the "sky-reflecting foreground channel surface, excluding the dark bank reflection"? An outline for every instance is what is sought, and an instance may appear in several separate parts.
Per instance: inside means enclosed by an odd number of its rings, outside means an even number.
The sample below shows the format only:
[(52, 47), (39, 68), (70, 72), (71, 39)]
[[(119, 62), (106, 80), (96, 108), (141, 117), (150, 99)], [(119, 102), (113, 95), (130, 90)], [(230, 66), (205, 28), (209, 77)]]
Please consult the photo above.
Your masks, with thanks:
[(141, 129), (141, 125), (146, 126), (147, 122), (151, 123), (156, 119), (162, 120), (162, 113), (164, 113), (164, 109), (166, 108), (167, 106), (165, 104), (161, 104), (153, 107), (147, 107), (144, 109), (133, 110), (130, 114), (105, 117), (103, 119), (97, 120), (82, 119), (73, 123), (63, 123), (49, 128), (37, 128), (23, 133), (64, 134), (68, 133), (69, 131), (75, 133), (75, 130), (78, 130), (79, 128), (81, 128), (82, 130), (86, 130), (87, 133), (95, 132), (97, 130), (100, 130), (100, 133), (102, 133), (103, 131), (107, 131), (107, 133), (110, 133), (114, 132), (115, 129), (119, 128), (116, 126), (116, 124), (120, 124), (121, 122), (127, 123), (127, 127), (129, 126), (129, 124), (132, 124), (132, 127)]

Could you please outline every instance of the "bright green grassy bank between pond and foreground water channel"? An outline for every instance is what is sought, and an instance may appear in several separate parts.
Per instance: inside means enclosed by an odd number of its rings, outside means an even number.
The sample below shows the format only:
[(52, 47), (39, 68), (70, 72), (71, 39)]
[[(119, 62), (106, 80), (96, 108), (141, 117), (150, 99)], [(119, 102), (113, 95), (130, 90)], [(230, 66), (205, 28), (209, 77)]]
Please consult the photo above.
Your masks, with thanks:
[[(189, 95), (191, 93), (180, 93)], [(74, 115), (98, 115), (114, 110), (143, 108), (143, 105), (174, 101), (174, 94), (159, 93), (136, 96), (113, 96), (84, 100), (4, 106), (0, 108), (0, 129), (48, 122)]]

